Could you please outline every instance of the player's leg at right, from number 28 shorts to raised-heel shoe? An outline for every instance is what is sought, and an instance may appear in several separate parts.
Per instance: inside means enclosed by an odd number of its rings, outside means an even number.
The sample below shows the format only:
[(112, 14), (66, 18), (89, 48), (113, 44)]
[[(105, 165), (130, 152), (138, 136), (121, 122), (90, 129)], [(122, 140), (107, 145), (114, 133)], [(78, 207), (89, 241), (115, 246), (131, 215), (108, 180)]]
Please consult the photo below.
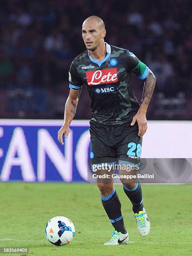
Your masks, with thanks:
[[(118, 147), (117, 153), (120, 159), (119, 164), (121, 166), (124, 165), (124, 167), (127, 166), (127, 169), (120, 168), (119, 172), (120, 174), (136, 176), (140, 163), (142, 138), (138, 136), (138, 126), (126, 127), (125, 125), (124, 128), (127, 135)], [(121, 181), (123, 190), (132, 203), (133, 215), (137, 222), (137, 230), (141, 236), (147, 236), (150, 232), (150, 222), (143, 206), (141, 184), (135, 177), (132, 179), (121, 179)]]

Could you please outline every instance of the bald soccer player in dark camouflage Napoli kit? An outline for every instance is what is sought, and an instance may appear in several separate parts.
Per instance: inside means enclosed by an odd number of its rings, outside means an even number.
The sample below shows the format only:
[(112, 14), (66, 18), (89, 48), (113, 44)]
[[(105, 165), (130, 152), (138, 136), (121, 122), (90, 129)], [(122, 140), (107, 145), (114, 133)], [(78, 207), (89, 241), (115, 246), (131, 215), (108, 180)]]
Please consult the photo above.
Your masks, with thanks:
[[(69, 71), (70, 93), (65, 104), (64, 123), (58, 141), (67, 138), (74, 118), (82, 84), (91, 98), (90, 120), (92, 164), (139, 164), (142, 136), (147, 130), (146, 112), (155, 87), (155, 76), (131, 51), (111, 46), (104, 41), (105, 24), (97, 16), (82, 24), (82, 38), (87, 48), (72, 61)], [(132, 89), (131, 73), (144, 80), (142, 103), (139, 105)], [(98, 166), (97, 166), (98, 167)], [(135, 170), (133, 172), (136, 172)], [(133, 215), (141, 236), (150, 232), (150, 222), (143, 206), (142, 189), (137, 179), (122, 179), (123, 189), (132, 202)], [(104, 245), (127, 243), (121, 203), (113, 182), (97, 180), (102, 205), (115, 228)]]

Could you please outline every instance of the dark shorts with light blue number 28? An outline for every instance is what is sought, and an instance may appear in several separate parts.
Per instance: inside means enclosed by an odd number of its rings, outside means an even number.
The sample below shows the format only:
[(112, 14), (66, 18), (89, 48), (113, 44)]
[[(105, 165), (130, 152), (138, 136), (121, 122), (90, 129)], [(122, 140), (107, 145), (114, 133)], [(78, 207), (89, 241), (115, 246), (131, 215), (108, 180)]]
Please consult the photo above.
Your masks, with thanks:
[(108, 126), (90, 121), (91, 164), (140, 164), (142, 138), (138, 125)]

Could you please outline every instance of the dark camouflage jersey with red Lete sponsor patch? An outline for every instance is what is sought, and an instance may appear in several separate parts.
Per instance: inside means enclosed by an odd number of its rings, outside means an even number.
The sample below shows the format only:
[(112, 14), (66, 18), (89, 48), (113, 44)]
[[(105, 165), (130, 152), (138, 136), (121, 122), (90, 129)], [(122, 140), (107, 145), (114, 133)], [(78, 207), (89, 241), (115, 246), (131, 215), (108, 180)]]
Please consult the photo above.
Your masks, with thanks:
[(105, 43), (107, 55), (102, 61), (84, 51), (72, 61), (69, 71), (70, 88), (85, 84), (91, 98), (92, 120), (105, 125), (132, 121), (139, 109), (133, 92), (131, 72), (145, 79), (149, 72), (132, 52)]

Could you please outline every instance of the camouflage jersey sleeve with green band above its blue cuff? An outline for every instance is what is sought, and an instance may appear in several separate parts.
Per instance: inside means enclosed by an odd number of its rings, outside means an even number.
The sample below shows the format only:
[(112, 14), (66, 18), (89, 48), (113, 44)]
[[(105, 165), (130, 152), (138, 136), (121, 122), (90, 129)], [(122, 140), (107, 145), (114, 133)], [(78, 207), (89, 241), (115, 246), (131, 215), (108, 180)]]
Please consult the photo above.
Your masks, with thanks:
[(127, 51), (127, 70), (134, 73), (141, 80), (145, 79), (149, 73), (146, 64), (140, 61), (131, 51)]

